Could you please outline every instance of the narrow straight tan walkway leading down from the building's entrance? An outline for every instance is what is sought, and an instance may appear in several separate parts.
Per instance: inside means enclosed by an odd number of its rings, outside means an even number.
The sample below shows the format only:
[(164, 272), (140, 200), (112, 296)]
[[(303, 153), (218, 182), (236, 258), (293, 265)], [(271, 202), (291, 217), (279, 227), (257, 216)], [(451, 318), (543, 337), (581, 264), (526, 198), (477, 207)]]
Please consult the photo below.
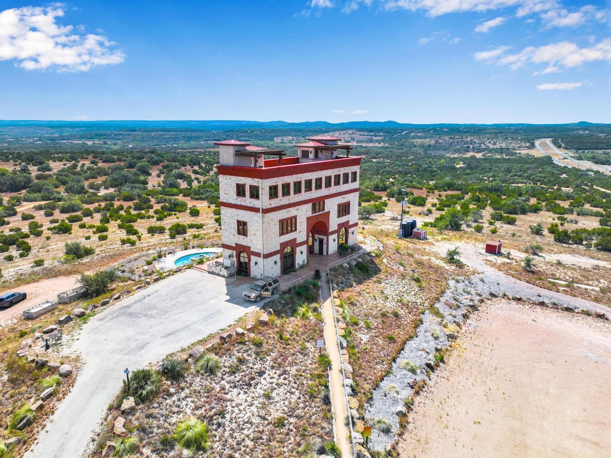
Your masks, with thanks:
[(340, 349), (337, 345), (337, 335), (335, 333), (333, 299), (331, 297), (331, 288), (326, 272), (321, 279), (320, 289), (323, 299), (324, 344), (331, 358), (331, 380), (329, 380), (329, 388), (331, 388), (331, 398), (333, 400), (333, 409), (335, 410), (333, 421), (335, 423), (335, 433), (337, 435), (337, 446), (342, 451), (342, 457), (349, 458), (353, 456), (353, 454), (350, 432), (348, 431), (348, 426), (345, 424), (345, 418), (346, 415), (348, 415), (346, 410), (346, 394), (342, 380), (342, 368), (340, 366)]

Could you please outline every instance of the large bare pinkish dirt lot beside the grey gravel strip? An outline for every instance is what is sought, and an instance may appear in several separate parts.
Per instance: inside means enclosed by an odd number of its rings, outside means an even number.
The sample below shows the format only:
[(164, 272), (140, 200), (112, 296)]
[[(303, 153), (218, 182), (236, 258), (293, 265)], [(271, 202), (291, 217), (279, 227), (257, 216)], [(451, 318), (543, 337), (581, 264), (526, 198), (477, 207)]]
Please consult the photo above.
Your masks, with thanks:
[(400, 454), (608, 456), (609, 380), (609, 321), (488, 303), (417, 397)]

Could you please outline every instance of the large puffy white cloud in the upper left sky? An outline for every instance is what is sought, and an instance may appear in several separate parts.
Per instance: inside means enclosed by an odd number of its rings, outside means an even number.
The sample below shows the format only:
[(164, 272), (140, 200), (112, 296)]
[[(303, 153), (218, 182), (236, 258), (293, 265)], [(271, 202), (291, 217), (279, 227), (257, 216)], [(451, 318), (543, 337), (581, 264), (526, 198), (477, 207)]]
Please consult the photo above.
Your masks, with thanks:
[(57, 24), (62, 16), (62, 4), (0, 12), (0, 60), (16, 60), (26, 70), (56, 71), (89, 71), (125, 60), (104, 35), (74, 34), (73, 26)]

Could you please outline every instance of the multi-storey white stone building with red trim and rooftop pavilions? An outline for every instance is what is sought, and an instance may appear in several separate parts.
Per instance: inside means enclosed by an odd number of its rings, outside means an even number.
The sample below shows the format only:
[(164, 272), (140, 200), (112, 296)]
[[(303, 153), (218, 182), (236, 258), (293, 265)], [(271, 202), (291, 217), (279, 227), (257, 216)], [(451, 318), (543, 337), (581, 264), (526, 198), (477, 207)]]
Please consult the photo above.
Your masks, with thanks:
[(307, 140), (295, 145), (295, 157), (238, 140), (215, 143), (225, 266), (277, 277), (356, 244), (360, 158), (337, 137)]

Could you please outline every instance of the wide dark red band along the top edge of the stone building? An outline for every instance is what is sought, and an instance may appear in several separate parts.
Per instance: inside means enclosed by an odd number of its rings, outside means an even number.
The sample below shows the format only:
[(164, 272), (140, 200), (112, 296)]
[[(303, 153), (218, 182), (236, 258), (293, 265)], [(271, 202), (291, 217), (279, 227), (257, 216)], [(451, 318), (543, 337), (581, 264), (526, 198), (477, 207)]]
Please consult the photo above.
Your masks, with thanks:
[(241, 176), (266, 180), (280, 176), (301, 175), (301, 173), (322, 172), (324, 170), (342, 169), (360, 165), (360, 157), (329, 159), (328, 161), (303, 162), (302, 164), (276, 165), (276, 167), (243, 167), (241, 165), (217, 165), (219, 175)]

